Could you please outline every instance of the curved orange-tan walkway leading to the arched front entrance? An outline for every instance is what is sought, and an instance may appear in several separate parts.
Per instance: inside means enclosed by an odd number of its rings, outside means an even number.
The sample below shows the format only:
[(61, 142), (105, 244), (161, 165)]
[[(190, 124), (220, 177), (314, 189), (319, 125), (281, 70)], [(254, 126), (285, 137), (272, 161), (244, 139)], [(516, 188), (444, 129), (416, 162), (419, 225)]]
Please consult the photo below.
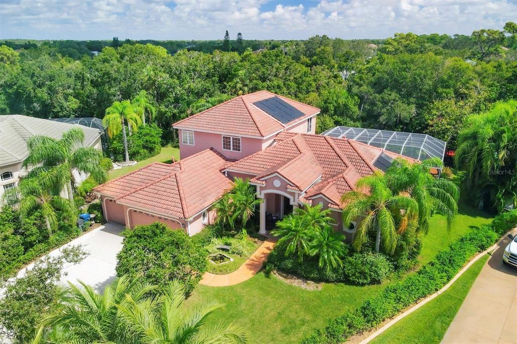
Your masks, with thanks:
[(253, 277), (258, 270), (262, 268), (262, 264), (269, 255), (269, 252), (275, 247), (275, 239), (267, 239), (256, 249), (256, 251), (240, 265), (240, 268), (227, 275), (216, 275), (205, 272), (200, 284), (210, 287), (227, 287), (242, 283)]

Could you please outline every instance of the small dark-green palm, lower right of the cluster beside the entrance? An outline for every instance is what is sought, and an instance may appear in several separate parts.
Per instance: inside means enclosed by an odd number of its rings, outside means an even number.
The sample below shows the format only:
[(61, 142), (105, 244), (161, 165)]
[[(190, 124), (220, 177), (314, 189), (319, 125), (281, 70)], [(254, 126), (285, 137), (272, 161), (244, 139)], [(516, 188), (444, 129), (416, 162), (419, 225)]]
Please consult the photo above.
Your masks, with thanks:
[(341, 258), (346, 254), (345, 237), (329, 225), (317, 230), (311, 244), (311, 256), (319, 256), (318, 265), (329, 271), (343, 266)]

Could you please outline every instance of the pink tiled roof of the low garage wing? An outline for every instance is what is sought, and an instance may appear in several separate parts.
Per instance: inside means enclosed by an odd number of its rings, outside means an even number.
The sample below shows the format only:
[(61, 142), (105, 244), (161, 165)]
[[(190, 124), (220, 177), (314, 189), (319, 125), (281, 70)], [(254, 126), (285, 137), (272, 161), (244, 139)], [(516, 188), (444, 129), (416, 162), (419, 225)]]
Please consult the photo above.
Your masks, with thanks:
[(154, 163), (99, 185), (95, 191), (119, 204), (189, 219), (233, 186), (221, 169), (229, 161), (205, 149), (174, 164)]

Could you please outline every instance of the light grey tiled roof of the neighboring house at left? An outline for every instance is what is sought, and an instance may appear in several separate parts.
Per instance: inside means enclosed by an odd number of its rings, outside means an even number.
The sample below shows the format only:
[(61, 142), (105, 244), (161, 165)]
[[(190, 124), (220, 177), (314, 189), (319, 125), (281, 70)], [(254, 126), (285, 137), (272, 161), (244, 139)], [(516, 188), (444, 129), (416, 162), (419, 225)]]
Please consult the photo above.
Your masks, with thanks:
[(45, 135), (56, 139), (71, 128), (84, 132), (84, 146), (92, 145), (101, 131), (79, 124), (55, 122), (48, 119), (23, 115), (0, 116), (0, 166), (18, 163), (28, 156), (27, 140), (34, 135)]

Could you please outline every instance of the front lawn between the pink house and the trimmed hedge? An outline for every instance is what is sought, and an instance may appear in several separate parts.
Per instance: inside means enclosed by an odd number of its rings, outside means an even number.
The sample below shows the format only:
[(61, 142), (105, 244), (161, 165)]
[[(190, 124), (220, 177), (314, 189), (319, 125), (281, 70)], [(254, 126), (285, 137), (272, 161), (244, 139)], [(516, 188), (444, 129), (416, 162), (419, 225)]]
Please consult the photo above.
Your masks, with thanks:
[[(490, 222), (481, 212), (462, 206), (452, 229), (447, 231), (445, 218), (434, 215), (430, 231), (424, 237), (422, 263), (431, 260), (471, 227)], [(258, 273), (248, 281), (232, 287), (196, 287), (187, 304), (200, 300), (217, 300), (225, 305), (221, 317), (244, 326), (252, 342), (299, 342), (314, 329), (321, 328), (348, 309), (380, 292), (384, 286), (358, 287), (324, 284), (320, 291), (308, 291), (282, 282), (275, 276)], [(221, 320), (221, 319), (217, 319)]]

